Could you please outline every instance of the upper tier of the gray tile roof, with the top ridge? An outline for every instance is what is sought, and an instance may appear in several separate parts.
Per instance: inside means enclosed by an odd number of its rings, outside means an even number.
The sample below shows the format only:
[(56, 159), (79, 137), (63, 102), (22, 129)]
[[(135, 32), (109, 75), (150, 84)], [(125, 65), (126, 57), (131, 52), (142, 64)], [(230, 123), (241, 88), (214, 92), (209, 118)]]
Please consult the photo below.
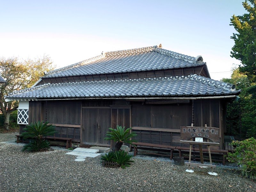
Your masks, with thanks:
[(201, 56), (195, 58), (151, 46), (106, 52), (64, 68), (49, 71), (43, 78), (184, 68), (206, 64), (202, 60)]

